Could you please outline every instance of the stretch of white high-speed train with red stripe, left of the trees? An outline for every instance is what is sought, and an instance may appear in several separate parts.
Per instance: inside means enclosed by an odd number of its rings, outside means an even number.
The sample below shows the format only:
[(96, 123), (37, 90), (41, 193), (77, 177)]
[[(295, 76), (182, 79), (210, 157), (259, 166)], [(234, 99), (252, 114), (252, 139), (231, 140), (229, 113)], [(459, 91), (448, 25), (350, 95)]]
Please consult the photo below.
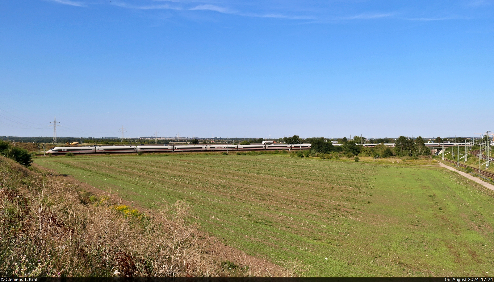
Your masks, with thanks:
[(48, 150), (48, 154), (99, 154), (99, 153), (160, 153), (160, 152), (201, 152), (201, 151), (258, 151), (258, 150), (306, 150), (310, 144), (252, 144), (252, 145), (146, 145), (146, 146), (80, 146), (80, 147), (54, 147)]

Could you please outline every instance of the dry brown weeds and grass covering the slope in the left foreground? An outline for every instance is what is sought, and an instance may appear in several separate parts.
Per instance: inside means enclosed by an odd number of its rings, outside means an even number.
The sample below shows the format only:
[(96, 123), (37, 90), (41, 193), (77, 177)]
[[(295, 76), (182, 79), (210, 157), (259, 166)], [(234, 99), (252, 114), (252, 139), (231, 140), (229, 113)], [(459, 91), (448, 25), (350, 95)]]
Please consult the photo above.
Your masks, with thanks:
[(3, 157), (0, 201), (2, 276), (296, 276), (305, 267), (225, 255), (183, 201), (146, 215)]

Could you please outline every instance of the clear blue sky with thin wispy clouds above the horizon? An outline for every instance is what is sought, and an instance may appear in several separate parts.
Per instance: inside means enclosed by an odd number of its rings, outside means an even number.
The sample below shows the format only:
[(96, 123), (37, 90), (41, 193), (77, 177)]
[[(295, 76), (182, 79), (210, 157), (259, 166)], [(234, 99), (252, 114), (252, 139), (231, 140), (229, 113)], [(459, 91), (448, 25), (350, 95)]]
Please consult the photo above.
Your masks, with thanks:
[(472, 136), (494, 1), (0, 2), (0, 135)]

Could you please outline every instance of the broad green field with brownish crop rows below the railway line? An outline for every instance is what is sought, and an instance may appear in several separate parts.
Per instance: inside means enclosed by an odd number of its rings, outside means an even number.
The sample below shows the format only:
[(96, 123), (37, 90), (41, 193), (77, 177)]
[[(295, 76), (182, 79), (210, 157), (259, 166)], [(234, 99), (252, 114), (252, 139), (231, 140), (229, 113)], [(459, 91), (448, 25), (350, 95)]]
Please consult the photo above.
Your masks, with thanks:
[(297, 257), (313, 266), (310, 276), (494, 273), (494, 193), (442, 168), (282, 154), (35, 163), (146, 208), (185, 199), (202, 229), (225, 244), (268, 259)]

